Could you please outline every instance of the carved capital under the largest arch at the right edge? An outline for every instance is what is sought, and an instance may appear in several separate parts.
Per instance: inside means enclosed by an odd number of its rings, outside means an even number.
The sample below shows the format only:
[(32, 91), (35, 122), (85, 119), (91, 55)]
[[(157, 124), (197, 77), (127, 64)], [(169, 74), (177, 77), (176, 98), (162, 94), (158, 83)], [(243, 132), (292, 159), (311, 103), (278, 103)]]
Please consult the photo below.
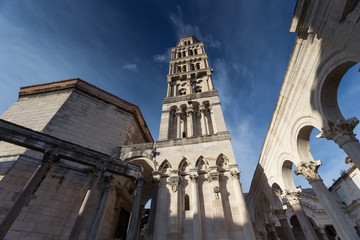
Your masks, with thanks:
[(356, 134), (353, 132), (358, 123), (359, 120), (356, 117), (346, 120), (339, 119), (335, 123), (327, 121), (317, 137), (333, 140), (339, 147), (342, 147), (345, 143), (350, 141), (358, 142), (359, 140), (355, 138)]

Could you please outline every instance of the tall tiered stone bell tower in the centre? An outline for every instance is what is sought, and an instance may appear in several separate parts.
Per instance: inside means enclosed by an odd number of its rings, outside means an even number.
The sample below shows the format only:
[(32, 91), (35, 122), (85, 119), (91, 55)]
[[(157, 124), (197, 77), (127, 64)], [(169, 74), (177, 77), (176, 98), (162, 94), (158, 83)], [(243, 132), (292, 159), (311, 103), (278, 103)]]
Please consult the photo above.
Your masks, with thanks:
[(154, 239), (254, 239), (204, 44), (171, 50), (156, 171)]

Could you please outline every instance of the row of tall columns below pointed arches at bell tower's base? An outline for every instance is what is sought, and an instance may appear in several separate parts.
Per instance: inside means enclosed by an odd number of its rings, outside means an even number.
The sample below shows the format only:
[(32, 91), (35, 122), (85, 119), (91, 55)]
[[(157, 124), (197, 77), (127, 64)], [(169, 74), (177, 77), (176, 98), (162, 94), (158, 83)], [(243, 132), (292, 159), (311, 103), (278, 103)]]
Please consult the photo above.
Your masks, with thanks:
[[(252, 226), (249, 223), (249, 213), (247, 211), (246, 202), (244, 196), (242, 194), (241, 184), (240, 184), (240, 171), (237, 168), (237, 164), (229, 165), (230, 168), (226, 170), (230, 174), (231, 182), (233, 184), (235, 199), (237, 208), (240, 209), (238, 223), (241, 225), (243, 235), (246, 239), (255, 239), (254, 232), (252, 230)], [(179, 172), (179, 170), (171, 170), (169, 175), (161, 175), (160, 172), (155, 172), (154, 179), (154, 187), (155, 191), (153, 191), (151, 208), (156, 209), (157, 206), (167, 206), (164, 198), (158, 198), (156, 194), (158, 193), (158, 187), (161, 179), (166, 178), (166, 185), (169, 186), (169, 198), (170, 198), (170, 212), (171, 217), (169, 218), (169, 212), (160, 212), (159, 214), (166, 214), (167, 221), (164, 220), (163, 216), (156, 216), (156, 218), (160, 217), (161, 220), (158, 222), (158, 225), (161, 223), (167, 223), (167, 237), (169, 236), (181, 236), (184, 231), (184, 227), (182, 226), (183, 218), (185, 217), (185, 211), (191, 211), (191, 222), (192, 222), (192, 239), (201, 240), (204, 239), (203, 233), (203, 221), (202, 215), (204, 213), (201, 212), (201, 209), (204, 209), (200, 206), (200, 199), (203, 196), (200, 196), (201, 192), (199, 189), (206, 184), (209, 190), (212, 192), (211, 194), (211, 204), (214, 221), (216, 221), (216, 225), (218, 229), (222, 229), (221, 236), (224, 239), (231, 239), (231, 233), (227, 231), (231, 226), (227, 226), (227, 224), (231, 224), (232, 221), (227, 221), (226, 211), (222, 204), (223, 198), (227, 198), (228, 196), (223, 196), (220, 188), (220, 181), (222, 177), (224, 177), (224, 173), (218, 171), (217, 166), (210, 166), (207, 171), (200, 171), (199, 167), (188, 169), (187, 173), (184, 175), (184, 172)], [(161, 178), (159, 177), (161, 175)], [(185, 180), (186, 179), (186, 180)], [(190, 188), (190, 198), (186, 193), (183, 193), (183, 181), (188, 181), (189, 185), (186, 185), (186, 188)], [(164, 183), (164, 182), (163, 182)], [(164, 189), (167, 189), (165, 186), (162, 186)], [(164, 195), (164, 193), (162, 193)], [(185, 194), (185, 195), (184, 195)], [(186, 200), (187, 198), (187, 200)], [(184, 201), (189, 201), (185, 203)], [(189, 209), (186, 209), (186, 205), (189, 204)], [(154, 210), (155, 211), (155, 210)], [(149, 218), (149, 228), (147, 234), (147, 240), (156, 239), (155, 237), (155, 214), (150, 214)], [(164, 221), (164, 222), (163, 222)], [(235, 221), (233, 219), (233, 221)], [(161, 224), (160, 224), (161, 225)], [(220, 226), (222, 225), (222, 226)], [(158, 229), (158, 231), (162, 231)]]

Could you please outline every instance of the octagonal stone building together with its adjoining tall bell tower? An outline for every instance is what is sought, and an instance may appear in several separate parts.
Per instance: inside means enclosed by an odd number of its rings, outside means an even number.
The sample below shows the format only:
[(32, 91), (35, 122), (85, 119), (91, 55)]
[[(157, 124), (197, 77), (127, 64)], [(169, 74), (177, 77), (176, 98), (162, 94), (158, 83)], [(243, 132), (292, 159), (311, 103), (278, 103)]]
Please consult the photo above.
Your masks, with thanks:
[(80, 79), (21, 88), (0, 120), (0, 239), (254, 239), (212, 71), (181, 38), (155, 143), (137, 106)]

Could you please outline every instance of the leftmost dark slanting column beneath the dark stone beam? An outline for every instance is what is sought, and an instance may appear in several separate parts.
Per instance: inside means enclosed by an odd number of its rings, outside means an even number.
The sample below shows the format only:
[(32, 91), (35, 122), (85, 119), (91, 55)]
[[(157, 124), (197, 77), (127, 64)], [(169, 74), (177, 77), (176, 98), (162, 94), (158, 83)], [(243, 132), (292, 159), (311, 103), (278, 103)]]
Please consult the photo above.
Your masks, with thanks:
[(4, 239), (11, 225), (14, 223), (17, 216), (23, 209), (25, 203), (29, 201), (32, 193), (39, 186), (51, 165), (58, 160), (59, 156), (55, 152), (47, 151), (44, 153), (41, 164), (35, 170), (29, 181), (26, 183), (25, 187), (22, 189), (20, 195), (16, 198), (15, 202), (11, 206), (9, 212), (2, 220), (0, 224), (0, 239)]

